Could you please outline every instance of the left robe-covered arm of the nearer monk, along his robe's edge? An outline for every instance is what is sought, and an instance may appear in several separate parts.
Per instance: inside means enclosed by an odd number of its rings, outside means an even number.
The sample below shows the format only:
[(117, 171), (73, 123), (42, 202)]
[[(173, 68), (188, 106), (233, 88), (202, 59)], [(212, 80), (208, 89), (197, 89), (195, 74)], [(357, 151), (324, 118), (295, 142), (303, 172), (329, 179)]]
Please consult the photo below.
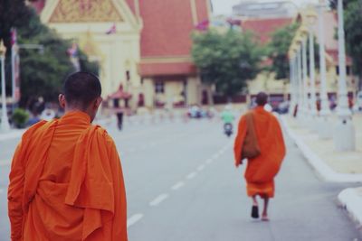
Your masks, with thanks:
[(22, 144), (19, 144), (14, 153), (7, 192), (12, 241), (22, 240), (23, 236), (24, 160), (21, 152)]

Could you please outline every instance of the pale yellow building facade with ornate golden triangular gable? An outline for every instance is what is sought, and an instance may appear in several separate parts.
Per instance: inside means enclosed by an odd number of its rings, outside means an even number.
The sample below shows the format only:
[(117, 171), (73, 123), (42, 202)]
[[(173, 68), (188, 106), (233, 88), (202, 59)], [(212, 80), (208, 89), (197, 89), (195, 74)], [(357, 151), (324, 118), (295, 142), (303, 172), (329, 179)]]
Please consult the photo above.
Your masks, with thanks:
[(103, 97), (120, 84), (137, 93), (142, 25), (124, 0), (46, 1), (41, 19), (64, 39), (79, 43), (90, 60), (99, 62)]

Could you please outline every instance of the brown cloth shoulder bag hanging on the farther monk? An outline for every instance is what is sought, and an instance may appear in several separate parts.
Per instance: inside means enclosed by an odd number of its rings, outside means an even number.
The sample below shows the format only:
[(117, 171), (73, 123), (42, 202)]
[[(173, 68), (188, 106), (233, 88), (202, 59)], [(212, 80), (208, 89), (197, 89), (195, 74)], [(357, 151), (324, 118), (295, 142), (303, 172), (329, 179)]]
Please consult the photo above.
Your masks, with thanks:
[(245, 115), (246, 120), (246, 134), (243, 140), (242, 148), (242, 160), (252, 159), (261, 154), (261, 149), (258, 144), (258, 138), (255, 132), (255, 126), (253, 123), (252, 112)]

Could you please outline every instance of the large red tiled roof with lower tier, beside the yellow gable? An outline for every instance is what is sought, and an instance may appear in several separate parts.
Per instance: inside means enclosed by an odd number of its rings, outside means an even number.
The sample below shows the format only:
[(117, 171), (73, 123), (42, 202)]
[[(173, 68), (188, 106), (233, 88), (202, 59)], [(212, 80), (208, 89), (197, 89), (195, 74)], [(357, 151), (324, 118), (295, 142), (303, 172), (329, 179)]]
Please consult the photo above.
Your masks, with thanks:
[[(195, 0), (197, 23), (209, 18), (207, 1)], [(195, 30), (192, 1), (152, 0), (143, 1), (140, 15), (143, 19), (141, 32), (141, 58), (190, 56), (191, 33)], [(191, 74), (195, 67), (190, 62), (143, 63), (139, 73), (145, 75)]]

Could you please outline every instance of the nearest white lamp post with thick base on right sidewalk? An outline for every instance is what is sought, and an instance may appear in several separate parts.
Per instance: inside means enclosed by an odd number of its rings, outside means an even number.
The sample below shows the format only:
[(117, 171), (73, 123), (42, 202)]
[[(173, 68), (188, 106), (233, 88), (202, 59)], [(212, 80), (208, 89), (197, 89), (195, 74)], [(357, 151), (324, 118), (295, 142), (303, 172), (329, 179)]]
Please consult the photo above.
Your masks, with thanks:
[(356, 136), (355, 127), (352, 122), (352, 113), (348, 107), (346, 46), (343, 22), (343, 0), (338, 0), (338, 124), (334, 134), (334, 143), (338, 151), (354, 151), (356, 149)]

